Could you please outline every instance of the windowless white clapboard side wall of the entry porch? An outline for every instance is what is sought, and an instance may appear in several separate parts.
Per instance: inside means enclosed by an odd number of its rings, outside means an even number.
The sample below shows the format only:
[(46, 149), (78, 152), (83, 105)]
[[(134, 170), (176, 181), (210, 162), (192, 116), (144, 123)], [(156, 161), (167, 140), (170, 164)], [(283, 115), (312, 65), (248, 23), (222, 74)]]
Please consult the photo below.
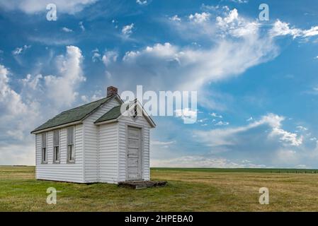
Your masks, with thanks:
[(102, 124), (98, 128), (98, 181), (118, 182), (118, 123)]

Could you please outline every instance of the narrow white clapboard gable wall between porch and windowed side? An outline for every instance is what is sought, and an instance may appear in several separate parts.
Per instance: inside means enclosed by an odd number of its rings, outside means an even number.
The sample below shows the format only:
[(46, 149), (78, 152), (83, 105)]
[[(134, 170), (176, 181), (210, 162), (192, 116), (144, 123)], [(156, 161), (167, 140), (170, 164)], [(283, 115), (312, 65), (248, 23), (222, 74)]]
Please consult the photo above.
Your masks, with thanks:
[(99, 107), (95, 112), (93, 112), (93, 114), (83, 121), (85, 153), (84, 180), (87, 183), (98, 182), (98, 126), (96, 126), (94, 122), (110, 109), (118, 105), (118, 100), (113, 98)]

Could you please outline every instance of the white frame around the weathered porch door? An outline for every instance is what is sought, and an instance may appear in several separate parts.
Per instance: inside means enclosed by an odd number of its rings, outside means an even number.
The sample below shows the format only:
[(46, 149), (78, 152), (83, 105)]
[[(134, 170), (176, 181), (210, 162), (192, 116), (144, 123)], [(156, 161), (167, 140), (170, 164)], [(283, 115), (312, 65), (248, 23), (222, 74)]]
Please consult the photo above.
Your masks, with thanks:
[[(135, 129), (140, 129), (140, 150), (139, 150), (139, 165), (138, 170), (140, 171), (140, 178), (138, 179), (129, 179), (128, 178), (128, 127), (132, 127)], [(126, 123), (125, 124), (125, 136), (126, 136), (126, 153), (125, 153), (125, 169), (126, 169), (126, 181), (134, 181), (134, 180), (144, 180), (144, 126), (140, 124), (134, 123)]]

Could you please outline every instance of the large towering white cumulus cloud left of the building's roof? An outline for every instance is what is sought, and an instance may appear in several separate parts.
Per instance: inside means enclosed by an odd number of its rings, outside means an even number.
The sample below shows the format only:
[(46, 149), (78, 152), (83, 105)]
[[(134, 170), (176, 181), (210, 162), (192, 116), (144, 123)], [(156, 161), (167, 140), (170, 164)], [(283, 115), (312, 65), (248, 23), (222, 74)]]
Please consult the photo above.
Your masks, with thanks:
[(56, 59), (57, 75), (28, 74), (18, 80), (19, 92), (11, 86), (10, 71), (0, 65), (0, 165), (34, 164), (34, 140), (30, 131), (74, 105), (76, 88), (85, 81), (82, 58), (78, 47), (67, 47), (67, 53)]

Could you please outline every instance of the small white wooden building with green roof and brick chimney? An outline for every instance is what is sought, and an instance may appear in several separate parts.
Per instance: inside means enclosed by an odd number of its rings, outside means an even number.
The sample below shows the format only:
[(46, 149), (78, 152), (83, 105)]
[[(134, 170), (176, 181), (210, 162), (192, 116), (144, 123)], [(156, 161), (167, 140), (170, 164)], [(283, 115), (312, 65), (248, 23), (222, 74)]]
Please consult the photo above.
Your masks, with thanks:
[(107, 97), (48, 120), (35, 134), (36, 179), (117, 184), (149, 180), (149, 130), (156, 125), (142, 116), (120, 114), (117, 88)]

